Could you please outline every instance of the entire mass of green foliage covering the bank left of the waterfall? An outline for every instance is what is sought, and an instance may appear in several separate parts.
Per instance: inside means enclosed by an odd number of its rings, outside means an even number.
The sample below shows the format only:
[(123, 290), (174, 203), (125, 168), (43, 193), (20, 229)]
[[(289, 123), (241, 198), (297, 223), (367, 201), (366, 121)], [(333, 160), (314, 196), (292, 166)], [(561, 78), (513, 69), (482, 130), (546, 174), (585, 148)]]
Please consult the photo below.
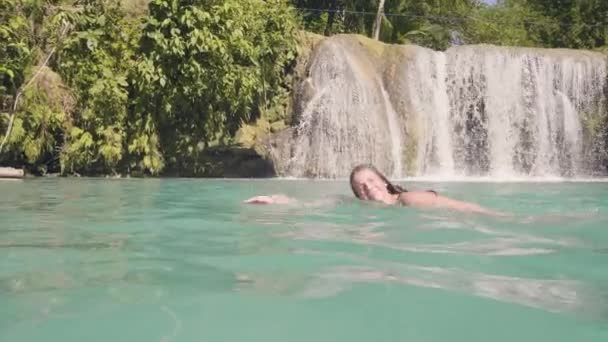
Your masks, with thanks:
[(0, 128), (44, 56), (70, 99), (34, 82), (4, 162), (158, 174), (194, 167), (245, 122), (285, 116), (297, 30), (286, 1), (0, 1)]

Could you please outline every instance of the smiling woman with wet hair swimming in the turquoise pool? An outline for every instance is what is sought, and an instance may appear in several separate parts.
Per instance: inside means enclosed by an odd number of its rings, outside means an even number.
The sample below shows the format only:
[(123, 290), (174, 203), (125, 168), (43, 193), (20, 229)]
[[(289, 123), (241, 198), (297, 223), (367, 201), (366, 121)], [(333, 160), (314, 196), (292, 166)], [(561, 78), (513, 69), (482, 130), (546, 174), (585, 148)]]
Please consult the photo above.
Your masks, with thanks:
[[(445, 208), (470, 213), (504, 216), (505, 214), (483, 208), (475, 203), (457, 201), (438, 195), (435, 191), (407, 191), (392, 184), (371, 165), (359, 165), (350, 174), (350, 186), (355, 196), (364, 201), (415, 208)], [(294, 200), (284, 195), (256, 196), (245, 203), (287, 204)]]

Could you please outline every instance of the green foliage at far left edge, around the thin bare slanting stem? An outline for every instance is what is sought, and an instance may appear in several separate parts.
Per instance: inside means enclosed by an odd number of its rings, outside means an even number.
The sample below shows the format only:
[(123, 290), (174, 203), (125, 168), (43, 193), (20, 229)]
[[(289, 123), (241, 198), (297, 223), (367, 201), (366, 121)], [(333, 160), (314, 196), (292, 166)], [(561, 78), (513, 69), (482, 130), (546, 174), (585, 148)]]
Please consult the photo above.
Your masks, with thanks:
[[(52, 162), (65, 114), (46, 91), (52, 83), (49, 70), (34, 68), (42, 50), (39, 38), (46, 33), (40, 30), (40, 9), (36, 0), (0, 0), (0, 140), (14, 118), (0, 161), (29, 165), (35, 172)], [(45, 82), (29, 82), (34, 71)]]

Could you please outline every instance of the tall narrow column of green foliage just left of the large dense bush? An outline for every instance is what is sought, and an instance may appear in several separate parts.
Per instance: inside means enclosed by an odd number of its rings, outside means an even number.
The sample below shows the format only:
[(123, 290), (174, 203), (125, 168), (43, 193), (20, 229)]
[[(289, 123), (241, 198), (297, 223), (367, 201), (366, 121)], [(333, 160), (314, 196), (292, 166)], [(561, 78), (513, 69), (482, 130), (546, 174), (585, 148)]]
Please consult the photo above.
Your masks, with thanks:
[(137, 26), (118, 1), (85, 0), (64, 12), (71, 34), (62, 41), (54, 67), (77, 99), (61, 153), (64, 172), (116, 172), (126, 150), (127, 76)]

